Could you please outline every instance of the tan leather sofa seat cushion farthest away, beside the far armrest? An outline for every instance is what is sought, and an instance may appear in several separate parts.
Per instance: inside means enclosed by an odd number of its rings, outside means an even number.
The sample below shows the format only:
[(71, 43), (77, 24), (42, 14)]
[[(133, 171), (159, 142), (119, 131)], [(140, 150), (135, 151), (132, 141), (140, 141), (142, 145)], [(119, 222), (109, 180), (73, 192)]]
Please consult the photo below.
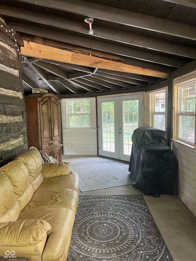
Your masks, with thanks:
[(45, 179), (40, 188), (47, 190), (70, 188), (79, 192), (79, 177), (76, 172), (70, 172), (68, 175)]

